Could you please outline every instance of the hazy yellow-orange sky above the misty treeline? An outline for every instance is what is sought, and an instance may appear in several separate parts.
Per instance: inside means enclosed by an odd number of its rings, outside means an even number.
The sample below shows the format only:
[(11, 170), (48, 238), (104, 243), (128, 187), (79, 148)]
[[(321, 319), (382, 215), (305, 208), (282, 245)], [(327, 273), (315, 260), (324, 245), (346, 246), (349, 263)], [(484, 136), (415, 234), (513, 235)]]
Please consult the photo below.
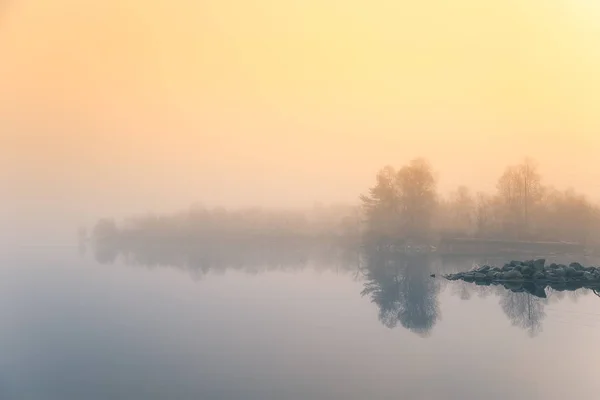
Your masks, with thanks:
[(5, 1), (0, 218), (354, 202), (419, 156), (600, 200), (598, 71), (596, 0)]

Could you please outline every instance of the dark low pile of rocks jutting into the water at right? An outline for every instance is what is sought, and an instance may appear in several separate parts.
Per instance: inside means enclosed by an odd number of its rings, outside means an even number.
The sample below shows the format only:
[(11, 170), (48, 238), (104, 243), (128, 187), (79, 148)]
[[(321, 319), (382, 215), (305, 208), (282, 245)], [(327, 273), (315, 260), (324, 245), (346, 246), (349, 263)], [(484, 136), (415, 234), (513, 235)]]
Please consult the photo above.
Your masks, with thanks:
[(546, 297), (545, 288), (554, 290), (590, 289), (600, 296), (600, 268), (584, 267), (574, 262), (567, 265), (546, 265), (545, 259), (511, 261), (503, 267), (484, 265), (467, 272), (444, 275), (455, 281), (477, 285), (502, 285), (513, 292), (529, 292)]

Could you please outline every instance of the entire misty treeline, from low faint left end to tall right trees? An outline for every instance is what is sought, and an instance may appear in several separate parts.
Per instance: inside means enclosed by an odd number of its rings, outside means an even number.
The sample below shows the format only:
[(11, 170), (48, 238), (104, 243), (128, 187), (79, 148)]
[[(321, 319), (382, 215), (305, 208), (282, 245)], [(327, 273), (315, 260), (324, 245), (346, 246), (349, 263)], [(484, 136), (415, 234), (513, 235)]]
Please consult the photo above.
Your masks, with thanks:
[[(600, 211), (572, 189), (546, 186), (526, 159), (498, 177), (493, 193), (465, 186), (442, 196), (430, 164), (415, 159), (382, 168), (357, 205), (308, 210), (193, 206), (172, 214), (146, 214), (122, 222), (100, 220), (92, 231), (97, 248), (140, 246), (282, 246), (327, 242), (436, 244), (441, 238), (574, 242), (597, 246)], [(212, 243), (212, 244), (210, 244)]]

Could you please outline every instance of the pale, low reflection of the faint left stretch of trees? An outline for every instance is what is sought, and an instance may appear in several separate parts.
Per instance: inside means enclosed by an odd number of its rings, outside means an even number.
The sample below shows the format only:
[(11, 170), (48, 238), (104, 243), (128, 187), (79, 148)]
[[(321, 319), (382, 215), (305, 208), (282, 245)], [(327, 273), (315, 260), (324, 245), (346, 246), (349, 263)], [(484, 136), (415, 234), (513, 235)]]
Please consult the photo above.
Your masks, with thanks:
[(336, 271), (356, 271), (359, 250), (331, 240), (312, 238), (207, 237), (194, 243), (145, 237), (114, 240), (97, 245), (94, 257), (100, 264), (121, 260), (147, 268), (170, 267), (199, 278), (208, 273), (238, 270), (249, 273), (293, 270), (306, 266)]

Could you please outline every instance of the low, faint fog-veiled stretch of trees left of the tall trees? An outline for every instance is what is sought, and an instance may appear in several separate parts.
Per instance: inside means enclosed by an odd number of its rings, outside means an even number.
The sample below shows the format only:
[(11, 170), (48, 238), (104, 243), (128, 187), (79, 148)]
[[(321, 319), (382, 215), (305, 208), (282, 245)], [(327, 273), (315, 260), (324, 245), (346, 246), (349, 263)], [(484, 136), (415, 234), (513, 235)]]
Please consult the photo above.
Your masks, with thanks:
[(175, 253), (192, 254), (193, 262), (210, 264), (213, 258), (232, 258), (228, 254), (244, 254), (251, 260), (257, 252), (259, 259), (269, 253), (277, 260), (287, 255), (293, 258), (298, 249), (311, 253), (326, 246), (355, 246), (360, 241), (359, 225), (358, 207), (344, 205), (297, 211), (193, 206), (173, 214), (146, 214), (122, 222), (101, 219), (91, 232), (91, 240), (102, 261), (111, 261), (117, 254), (142, 261), (140, 254)]

